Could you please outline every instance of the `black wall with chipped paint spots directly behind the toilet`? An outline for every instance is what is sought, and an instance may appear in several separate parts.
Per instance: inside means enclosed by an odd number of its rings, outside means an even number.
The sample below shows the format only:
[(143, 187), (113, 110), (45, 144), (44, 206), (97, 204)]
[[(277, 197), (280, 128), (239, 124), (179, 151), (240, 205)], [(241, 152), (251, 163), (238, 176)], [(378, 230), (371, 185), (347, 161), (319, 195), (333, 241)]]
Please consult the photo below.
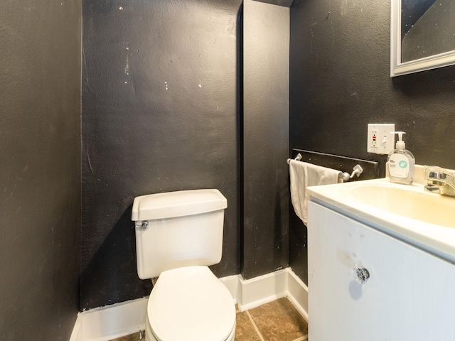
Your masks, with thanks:
[(217, 276), (240, 271), (241, 1), (83, 1), (81, 308), (149, 295), (134, 197), (218, 188)]

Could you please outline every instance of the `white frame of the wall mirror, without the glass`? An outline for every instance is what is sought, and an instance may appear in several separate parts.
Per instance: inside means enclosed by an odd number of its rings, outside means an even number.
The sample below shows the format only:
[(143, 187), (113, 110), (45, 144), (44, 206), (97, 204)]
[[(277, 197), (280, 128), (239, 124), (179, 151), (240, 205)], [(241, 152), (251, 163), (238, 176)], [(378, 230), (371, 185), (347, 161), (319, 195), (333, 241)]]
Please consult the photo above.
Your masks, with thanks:
[(455, 50), (401, 63), (401, 0), (392, 0), (390, 16), (390, 77), (455, 64)]

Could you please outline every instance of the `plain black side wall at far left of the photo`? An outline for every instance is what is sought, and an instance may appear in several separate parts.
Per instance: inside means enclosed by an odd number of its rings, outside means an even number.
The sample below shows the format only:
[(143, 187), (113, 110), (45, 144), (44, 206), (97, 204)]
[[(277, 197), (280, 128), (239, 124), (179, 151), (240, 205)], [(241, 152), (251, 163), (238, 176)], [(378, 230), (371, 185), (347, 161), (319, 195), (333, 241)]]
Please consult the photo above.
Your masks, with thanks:
[(81, 8), (0, 14), (0, 340), (68, 340), (79, 303)]

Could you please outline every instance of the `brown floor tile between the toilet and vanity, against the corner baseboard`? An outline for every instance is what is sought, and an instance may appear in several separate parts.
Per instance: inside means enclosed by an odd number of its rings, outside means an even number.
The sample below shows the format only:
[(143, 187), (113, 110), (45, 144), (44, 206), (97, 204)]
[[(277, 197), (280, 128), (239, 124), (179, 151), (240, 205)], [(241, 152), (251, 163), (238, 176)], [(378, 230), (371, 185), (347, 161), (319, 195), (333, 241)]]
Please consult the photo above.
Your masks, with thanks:
[(249, 310), (265, 341), (293, 341), (308, 335), (308, 323), (288, 298)]

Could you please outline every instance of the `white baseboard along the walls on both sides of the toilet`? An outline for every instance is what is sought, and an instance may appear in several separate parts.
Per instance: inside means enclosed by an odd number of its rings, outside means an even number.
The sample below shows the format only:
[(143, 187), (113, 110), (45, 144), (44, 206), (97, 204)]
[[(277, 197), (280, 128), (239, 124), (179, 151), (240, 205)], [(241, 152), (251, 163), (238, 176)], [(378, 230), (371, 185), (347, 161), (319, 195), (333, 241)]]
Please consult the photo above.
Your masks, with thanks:
[[(291, 268), (245, 280), (220, 278), (240, 310), (287, 296), (308, 320), (308, 288)], [(145, 329), (148, 297), (90, 309), (77, 315), (70, 341), (106, 341)]]

